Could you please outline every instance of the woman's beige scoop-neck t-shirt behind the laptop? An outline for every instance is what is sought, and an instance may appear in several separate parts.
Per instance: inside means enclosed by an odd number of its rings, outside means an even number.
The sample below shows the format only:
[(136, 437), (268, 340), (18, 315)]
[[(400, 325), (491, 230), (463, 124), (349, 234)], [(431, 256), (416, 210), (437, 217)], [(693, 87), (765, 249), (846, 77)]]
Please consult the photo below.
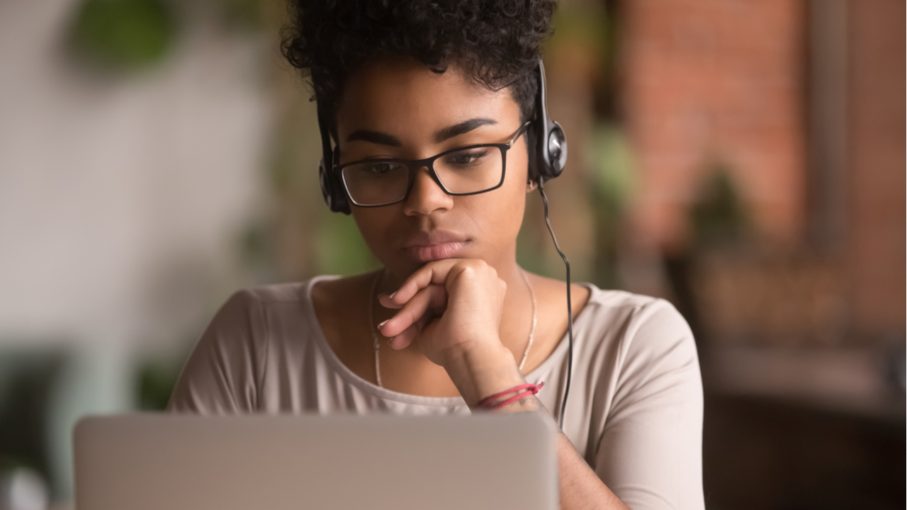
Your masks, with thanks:
[[(219, 310), (171, 396), (171, 411), (200, 414), (338, 412), (468, 414), (461, 397), (377, 387), (344, 366), (312, 307), (317, 277), (241, 290)], [(574, 319), (573, 372), (563, 432), (634, 510), (701, 509), (702, 382), (686, 321), (663, 299), (586, 284)], [(526, 374), (556, 415), (567, 338)]]

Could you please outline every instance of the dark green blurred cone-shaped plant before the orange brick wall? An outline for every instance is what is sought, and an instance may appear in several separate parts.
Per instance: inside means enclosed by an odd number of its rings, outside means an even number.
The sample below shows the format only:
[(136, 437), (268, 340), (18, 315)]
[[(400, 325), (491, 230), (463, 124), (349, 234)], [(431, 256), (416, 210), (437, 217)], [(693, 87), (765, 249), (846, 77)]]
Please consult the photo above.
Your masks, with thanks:
[(693, 240), (698, 248), (721, 248), (746, 239), (750, 221), (727, 165), (716, 163), (699, 188), (690, 208)]

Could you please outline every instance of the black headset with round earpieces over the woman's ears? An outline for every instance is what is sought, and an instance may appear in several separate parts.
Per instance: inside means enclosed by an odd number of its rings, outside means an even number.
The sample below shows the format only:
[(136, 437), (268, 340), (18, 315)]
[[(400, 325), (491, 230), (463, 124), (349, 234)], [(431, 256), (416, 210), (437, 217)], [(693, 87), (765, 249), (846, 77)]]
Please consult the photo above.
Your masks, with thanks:
[[(535, 119), (529, 126), (527, 140), (530, 142), (529, 179), (531, 181), (550, 181), (561, 175), (567, 163), (567, 137), (561, 124), (548, 117), (545, 103), (545, 66), (535, 68), (538, 91), (535, 94)], [(318, 131), (321, 132), (321, 162), (318, 163), (318, 182), (321, 184), (321, 195), (327, 208), (334, 212), (350, 213), (349, 198), (346, 187), (340, 176), (333, 172), (338, 162), (338, 148), (331, 147), (331, 133), (327, 107), (317, 102)], [(327, 164), (329, 162), (329, 165)]]

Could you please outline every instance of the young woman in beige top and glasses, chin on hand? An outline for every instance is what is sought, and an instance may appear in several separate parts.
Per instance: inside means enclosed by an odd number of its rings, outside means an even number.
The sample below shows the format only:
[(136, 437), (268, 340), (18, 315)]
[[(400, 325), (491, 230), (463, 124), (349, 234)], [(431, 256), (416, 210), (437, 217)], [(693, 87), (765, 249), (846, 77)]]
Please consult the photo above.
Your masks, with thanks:
[[(336, 141), (326, 175), (384, 267), (235, 294), (171, 410), (468, 414), (544, 382), (496, 412), (561, 419), (566, 286), (516, 260), (538, 185), (537, 66), (553, 3), (294, 9), (284, 49)], [(686, 322), (660, 299), (590, 284), (571, 294), (562, 507), (702, 508), (702, 390)]]

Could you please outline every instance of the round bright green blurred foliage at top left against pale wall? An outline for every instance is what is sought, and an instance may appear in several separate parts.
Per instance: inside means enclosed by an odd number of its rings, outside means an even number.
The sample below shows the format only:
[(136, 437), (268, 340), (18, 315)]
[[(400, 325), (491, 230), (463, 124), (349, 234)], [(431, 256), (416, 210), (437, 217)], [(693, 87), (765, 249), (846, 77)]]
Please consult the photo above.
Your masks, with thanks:
[(76, 54), (124, 69), (160, 61), (176, 32), (171, 6), (161, 0), (85, 0), (70, 41)]

